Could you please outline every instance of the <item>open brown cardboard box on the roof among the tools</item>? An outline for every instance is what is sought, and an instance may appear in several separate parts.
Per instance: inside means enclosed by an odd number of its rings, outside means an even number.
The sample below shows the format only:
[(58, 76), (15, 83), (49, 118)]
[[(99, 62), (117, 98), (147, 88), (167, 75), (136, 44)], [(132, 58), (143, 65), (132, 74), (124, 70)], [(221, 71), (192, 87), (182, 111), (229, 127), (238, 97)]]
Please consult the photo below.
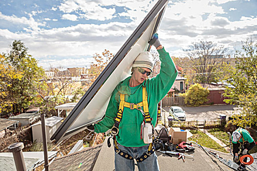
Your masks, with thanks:
[[(189, 131), (188, 131), (189, 132)], [(190, 133), (190, 132), (189, 132)], [(173, 144), (179, 144), (182, 141), (187, 142), (187, 131), (181, 131), (180, 128), (170, 128), (169, 129), (169, 134), (172, 137), (172, 142)], [(189, 134), (188, 134), (189, 135)], [(190, 135), (189, 135), (190, 136)]]

